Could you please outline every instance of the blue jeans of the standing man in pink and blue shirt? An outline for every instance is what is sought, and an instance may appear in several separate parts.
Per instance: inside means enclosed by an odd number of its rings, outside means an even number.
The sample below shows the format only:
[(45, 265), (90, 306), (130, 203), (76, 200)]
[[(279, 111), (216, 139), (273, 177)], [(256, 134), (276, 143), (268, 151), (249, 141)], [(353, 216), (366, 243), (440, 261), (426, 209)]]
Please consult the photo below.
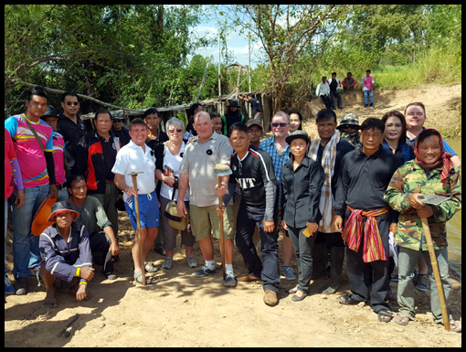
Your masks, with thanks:
[(21, 208), (13, 206), (13, 274), (15, 279), (31, 276), (29, 268), (40, 263), (38, 236), (31, 232), (32, 219), (37, 209), (48, 196), (49, 186), (25, 188), (25, 204)]

